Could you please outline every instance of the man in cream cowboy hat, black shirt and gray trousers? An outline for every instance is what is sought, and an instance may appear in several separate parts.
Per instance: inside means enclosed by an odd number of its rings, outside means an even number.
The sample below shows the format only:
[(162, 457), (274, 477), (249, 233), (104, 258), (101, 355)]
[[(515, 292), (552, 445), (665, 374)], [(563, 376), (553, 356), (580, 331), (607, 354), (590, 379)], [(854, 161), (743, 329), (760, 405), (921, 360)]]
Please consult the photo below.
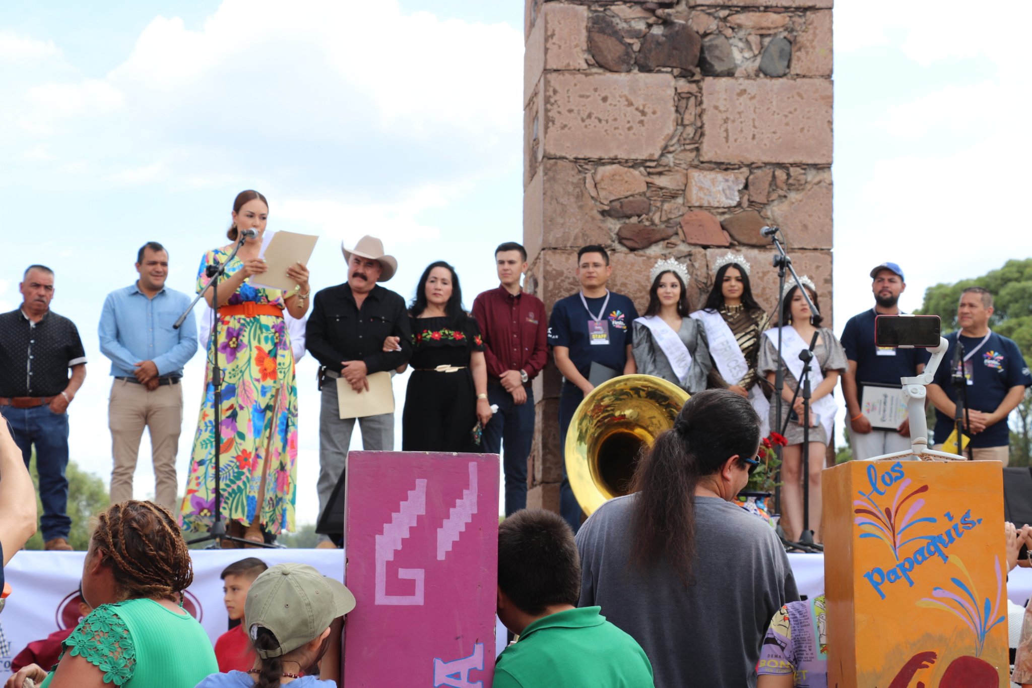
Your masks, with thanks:
[[(383, 242), (363, 236), (350, 251), (341, 244), (348, 261), (348, 281), (316, 294), (307, 330), (308, 350), (323, 366), (327, 378), (343, 378), (356, 392), (368, 390), (366, 375), (393, 370), (409, 362), (412, 338), (409, 313), (399, 294), (384, 289), (397, 270), (397, 261), (384, 253)], [(383, 351), (384, 340), (398, 338), (399, 351)], [(322, 374), (320, 374), (322, 379)], [(329, 503), (344, 473), (354, 418), (340, 418), (336, 381), (322, 385), (319, 413), (319, 516)], [(394, 415), (359, 418), (362, 447), (368, 451), (394, 449)], [(333, 547), (320, 535), (318, 547)]]

